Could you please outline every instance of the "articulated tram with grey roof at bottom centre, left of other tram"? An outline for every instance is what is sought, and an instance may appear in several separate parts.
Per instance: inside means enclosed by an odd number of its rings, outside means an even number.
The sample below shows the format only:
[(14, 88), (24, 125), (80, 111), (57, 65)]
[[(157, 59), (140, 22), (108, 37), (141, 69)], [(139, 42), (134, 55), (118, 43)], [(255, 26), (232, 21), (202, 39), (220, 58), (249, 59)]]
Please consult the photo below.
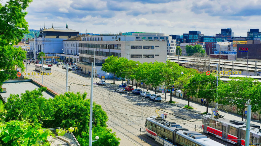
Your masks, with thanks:
[(146, 134), (164, 146), (224, 146), (201, 133), (182, 128), (181, 125), (161, 117), (146, 118), (145, 127)]

